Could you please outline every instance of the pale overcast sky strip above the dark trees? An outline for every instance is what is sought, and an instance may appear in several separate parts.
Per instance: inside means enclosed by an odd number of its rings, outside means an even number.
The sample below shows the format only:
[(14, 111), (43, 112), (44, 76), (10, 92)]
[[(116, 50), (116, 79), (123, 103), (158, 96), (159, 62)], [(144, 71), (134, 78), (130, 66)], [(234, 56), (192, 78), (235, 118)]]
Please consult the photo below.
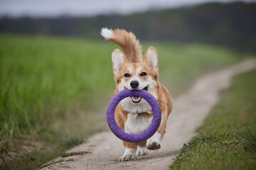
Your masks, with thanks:
[[(211, 2), (213, 0), (0, 0), (0, 16), (95, 16), (148, 11)], [(233, 0), (215, 0), (230, 2)], [(256, 0), (242, 0), (256, 2)]]

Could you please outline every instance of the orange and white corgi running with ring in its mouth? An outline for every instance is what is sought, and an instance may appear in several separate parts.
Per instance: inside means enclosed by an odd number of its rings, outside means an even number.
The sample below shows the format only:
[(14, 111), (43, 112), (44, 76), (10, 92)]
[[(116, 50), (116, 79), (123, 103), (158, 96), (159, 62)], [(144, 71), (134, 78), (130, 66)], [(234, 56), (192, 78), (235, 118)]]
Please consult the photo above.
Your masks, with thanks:
[[(124, 89), (146, 90), (159, 102), (161, 108), (161, 124), (157, 132), (143, 142), (126, 142), (124, 154), (119, 161), (137, 159), (138, 155), (148, 154), (147, 149), (160, 149), (161, 138), (166, 132), (166, 123), (172, 110), (169, 91), (159, 83), (158, 55), (154, 47), (149, 47), (142, 58), (142, 47), (135, 35), (126, 30), (102, 28), (101, 35), (117, 43), (123, 52), (116, 49), (112, 52), (112, 67), (116, 89), (114, 94)], [(153, 113), (151, 106), (144, 98), (130, 96), (117, 105), (114, 118), (119, 128), (129, 134), (144, 132), (151, 125)]]

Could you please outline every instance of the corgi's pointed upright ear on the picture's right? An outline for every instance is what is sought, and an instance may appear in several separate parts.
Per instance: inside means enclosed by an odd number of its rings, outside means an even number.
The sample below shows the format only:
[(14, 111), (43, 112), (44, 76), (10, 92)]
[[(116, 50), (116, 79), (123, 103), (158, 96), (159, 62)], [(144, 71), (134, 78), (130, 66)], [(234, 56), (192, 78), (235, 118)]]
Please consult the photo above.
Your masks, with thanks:
[(152, 69), (158, 70), (158, 55), (154, 47), (149, 47), (149, 49), (146, 50), (146, 54), (144, 55), (143, 62), (146, 62), (147, 64), (149, 64), (149, 66)]

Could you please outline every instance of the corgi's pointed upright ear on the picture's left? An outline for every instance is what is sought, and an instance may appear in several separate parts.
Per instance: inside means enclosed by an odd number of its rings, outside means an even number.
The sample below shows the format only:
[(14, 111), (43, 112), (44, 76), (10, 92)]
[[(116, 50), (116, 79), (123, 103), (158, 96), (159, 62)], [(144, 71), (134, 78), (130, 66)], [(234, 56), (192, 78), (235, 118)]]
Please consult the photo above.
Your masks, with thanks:
[(112, 63), (114, 72), (119, 72), (122, 69), (122, 65), (128, 62), (124, 54), (116, 49), (112, 52)]

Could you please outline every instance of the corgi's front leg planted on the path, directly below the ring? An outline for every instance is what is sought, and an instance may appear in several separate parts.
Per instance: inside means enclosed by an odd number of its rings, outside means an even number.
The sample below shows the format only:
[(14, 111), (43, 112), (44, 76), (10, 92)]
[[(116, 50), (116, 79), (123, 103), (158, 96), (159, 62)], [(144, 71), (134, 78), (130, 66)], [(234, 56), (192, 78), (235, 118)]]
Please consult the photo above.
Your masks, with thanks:
[(135, 160), (136, 157), (136, 152), (137, 152), (137, 143), (132, 143), (132, 142), (125, 142), (124, 143), (124, 154), (122, 157), (120, 157), (119, 161), (120, 162), (125, 162), (125, 161), (132, 161)]

